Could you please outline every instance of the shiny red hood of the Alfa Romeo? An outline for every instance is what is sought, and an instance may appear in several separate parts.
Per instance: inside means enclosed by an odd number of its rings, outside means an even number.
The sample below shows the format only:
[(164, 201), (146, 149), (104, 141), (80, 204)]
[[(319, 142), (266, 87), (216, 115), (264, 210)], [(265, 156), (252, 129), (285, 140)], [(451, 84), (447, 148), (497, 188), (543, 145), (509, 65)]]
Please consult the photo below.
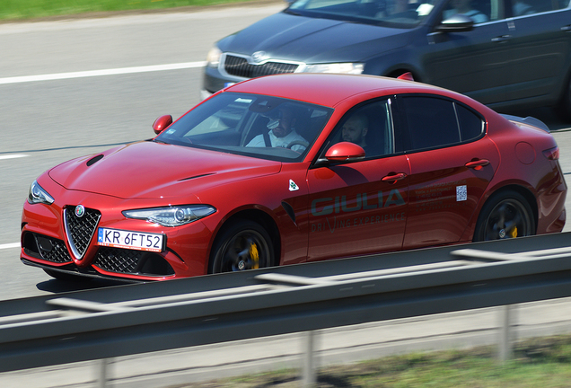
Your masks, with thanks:
[(117, 198), (181, 198), (280, 169), (278, 162), (145, 141), (62, 163), (48, 174), (67, 190)]

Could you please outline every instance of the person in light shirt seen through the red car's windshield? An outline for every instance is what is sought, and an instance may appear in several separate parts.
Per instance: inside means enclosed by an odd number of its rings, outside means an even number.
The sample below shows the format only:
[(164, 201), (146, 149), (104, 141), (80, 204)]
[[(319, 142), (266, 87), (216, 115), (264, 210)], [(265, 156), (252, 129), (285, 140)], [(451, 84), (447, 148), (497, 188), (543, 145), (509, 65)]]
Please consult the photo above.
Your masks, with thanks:
[[(294, 110), (291, 107), (283, 106), (277, 109), (277, 114), (269, 118), (267, 134), (261, 134), (251, 139), (246, 146), (273, 146), (287, 148), (292, 142), (303, 142), (307, 144), (301, 135), (295, 132)], [(304, 145), (295, 144), (291, 147), (292, 151), (302, 153), (305, 150)]]

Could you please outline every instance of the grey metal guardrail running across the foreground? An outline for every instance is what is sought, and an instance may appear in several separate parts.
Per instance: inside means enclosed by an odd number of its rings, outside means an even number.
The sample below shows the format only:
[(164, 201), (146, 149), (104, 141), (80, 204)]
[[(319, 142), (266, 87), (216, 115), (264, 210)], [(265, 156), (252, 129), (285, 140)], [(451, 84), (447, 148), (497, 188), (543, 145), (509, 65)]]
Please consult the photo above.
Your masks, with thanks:
[(570, 238), (551, 234), (4, 301), (0, 372), (565, 297)]

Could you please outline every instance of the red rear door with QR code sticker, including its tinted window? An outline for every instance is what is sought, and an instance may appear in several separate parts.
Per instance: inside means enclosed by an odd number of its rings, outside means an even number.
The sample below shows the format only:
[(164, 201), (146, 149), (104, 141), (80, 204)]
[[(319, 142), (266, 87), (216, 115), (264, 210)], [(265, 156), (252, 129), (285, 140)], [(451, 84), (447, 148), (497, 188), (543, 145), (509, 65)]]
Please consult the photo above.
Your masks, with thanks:
[(401, 96), (408, 128), (408, 220), (403, 249), (461, 241), (499, 157), (479, 114), (436, 96)]

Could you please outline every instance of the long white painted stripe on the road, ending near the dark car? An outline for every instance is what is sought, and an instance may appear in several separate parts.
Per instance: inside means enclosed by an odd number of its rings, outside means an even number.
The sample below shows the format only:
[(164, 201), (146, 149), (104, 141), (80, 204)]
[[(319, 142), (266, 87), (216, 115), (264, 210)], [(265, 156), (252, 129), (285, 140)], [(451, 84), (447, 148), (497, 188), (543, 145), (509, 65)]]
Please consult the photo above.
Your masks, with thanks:
[(147, 73), (147, 72), (165, 71), (165, 70), (180, 70), (180, 69), (197, 68), (204, 66), (206, 66), (206, 62), (200, 61), (200, 62), (185, 62), (185, 63), (169, 64), (169, 65), (122, 67), (122, 68), (105, 69), (105, 70), (88, 70), (81, 72), (57, 73), (50, 75), (22, 75), (22, 76), (0, 78), (0, 84), (21, 84), (27, 82), (53, 81), (53, 80), (93, 77), (101, 75), (126, 75), (126, 74)]

